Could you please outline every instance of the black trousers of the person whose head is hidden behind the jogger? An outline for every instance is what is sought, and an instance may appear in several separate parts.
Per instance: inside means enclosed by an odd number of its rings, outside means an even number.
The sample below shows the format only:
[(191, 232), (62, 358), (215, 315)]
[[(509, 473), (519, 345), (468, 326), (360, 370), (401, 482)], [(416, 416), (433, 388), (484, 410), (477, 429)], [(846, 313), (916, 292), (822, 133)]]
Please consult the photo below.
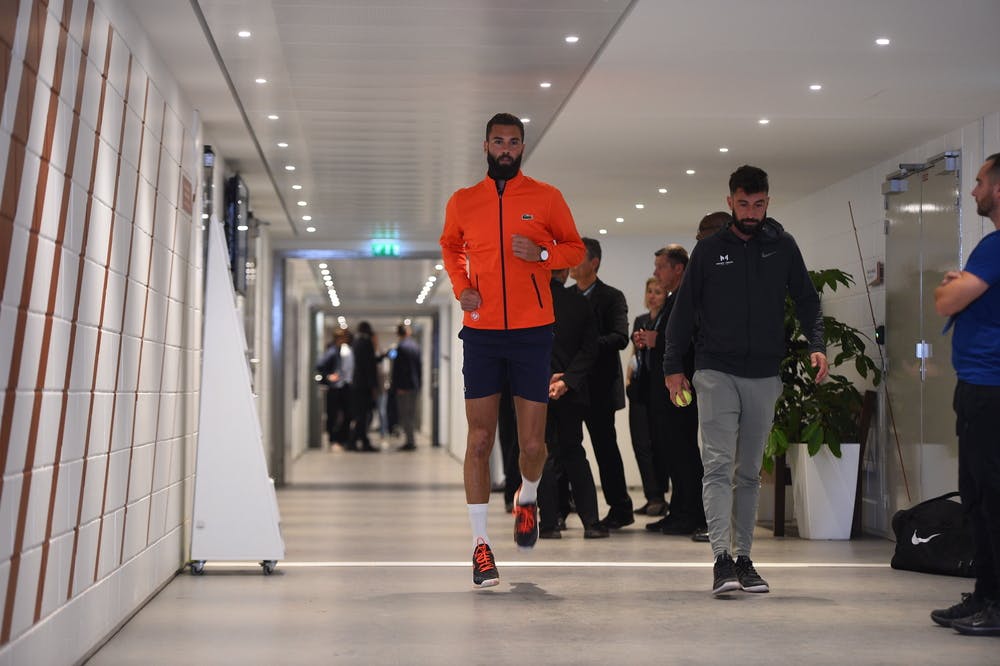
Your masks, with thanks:
[(555, 529), (562, 515), (560, 508), (560, 476), (569, 481), (576, 512), (584, 527), (596, 523), (600, 516), (597, 509), (597, 489), (594, 475), (583, 448), (583, 417), (586, 406), (566, 400), (550, 400), (545, 420), (545, 444), (548, 457), (538, 484), (539, 528)]

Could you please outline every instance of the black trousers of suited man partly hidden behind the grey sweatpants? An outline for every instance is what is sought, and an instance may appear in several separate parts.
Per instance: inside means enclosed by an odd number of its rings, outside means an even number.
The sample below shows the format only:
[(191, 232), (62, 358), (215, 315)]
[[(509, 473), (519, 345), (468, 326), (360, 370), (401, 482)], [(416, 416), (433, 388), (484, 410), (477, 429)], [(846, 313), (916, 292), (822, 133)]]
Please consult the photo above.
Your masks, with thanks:
[(671, 522), (701, 527), (705, 508), (701, 498), (704, 469), (698, 451), (698, 399), (687, 407), (670, 402), (664, 390), (649, 394), (649, 429), (653, 438), (653, 459), (660, 474), (670, 475)]

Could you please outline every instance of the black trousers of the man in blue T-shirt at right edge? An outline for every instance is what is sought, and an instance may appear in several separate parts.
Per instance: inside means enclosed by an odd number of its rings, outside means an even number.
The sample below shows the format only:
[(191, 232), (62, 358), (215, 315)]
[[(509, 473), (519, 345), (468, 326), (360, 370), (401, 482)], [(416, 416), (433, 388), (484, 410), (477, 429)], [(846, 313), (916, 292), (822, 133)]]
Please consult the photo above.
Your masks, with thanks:
[(1000, 386), (955, 387), (958, 490), (972, 517), (976, 596), (1000, 601)]

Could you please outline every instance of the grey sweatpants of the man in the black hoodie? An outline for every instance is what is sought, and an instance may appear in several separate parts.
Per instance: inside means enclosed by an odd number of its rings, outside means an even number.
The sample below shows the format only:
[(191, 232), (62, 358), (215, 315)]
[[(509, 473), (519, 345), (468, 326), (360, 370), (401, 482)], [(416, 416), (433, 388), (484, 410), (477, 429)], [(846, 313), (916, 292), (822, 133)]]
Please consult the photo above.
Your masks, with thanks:
[(712, 554), (750, 556), (764, 443), (781, 379), (748, 379), (717, 370), (694, 373), (698, 392), (702, 501)]

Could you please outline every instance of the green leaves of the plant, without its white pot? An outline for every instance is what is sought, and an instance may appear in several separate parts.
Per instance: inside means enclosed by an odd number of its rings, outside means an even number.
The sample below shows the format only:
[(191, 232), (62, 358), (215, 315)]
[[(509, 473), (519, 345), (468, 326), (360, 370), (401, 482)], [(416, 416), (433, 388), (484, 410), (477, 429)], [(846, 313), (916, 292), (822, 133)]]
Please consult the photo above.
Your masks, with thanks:
[[(827, 289), (836, 291), (839, 286), (854, 284), (854, 278), (838, 268), (809, 271), (809, 277), (821, 298)], [(850, 364), (861, 377), (871, 376), (875, 385), (882, 379), (882, 371), (865, 353), (866, 336), (844, 322), (823, 317), (830, 374), (822, 384), (816, 383), (816, 368), (809, 360), (808, 343), (791, 299), (785, 301), (785, 331), (787, 353), (780, 370), (784, 389), (775, 405), (774, 425), (764, 448), (764, 468), (768, 472), (774, 470), (775, 458), (787, 453), (790, 443), (806, 444), (811, 456), (825, 445), (839, 458), (841, 443), (856, 438), (861, 391), (838, 374), (837, 368)]]

